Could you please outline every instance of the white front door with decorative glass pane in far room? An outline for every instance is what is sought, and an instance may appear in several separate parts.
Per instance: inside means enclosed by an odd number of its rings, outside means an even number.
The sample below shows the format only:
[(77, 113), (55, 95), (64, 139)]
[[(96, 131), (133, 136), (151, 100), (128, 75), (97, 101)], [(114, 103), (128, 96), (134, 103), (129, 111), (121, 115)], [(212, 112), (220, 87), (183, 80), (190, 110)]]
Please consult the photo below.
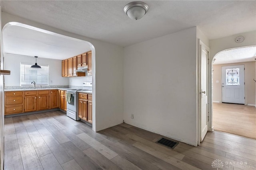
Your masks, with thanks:
[(244, 104), (244, 65), (222, 66), (222, 103)]

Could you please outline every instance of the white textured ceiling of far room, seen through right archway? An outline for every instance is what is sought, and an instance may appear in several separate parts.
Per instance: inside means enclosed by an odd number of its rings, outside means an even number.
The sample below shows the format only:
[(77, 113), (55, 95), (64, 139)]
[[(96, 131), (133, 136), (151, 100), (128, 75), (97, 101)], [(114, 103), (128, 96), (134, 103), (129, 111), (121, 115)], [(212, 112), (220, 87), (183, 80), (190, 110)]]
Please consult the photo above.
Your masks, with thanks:
[(243, 47), (222, 51), (214, 59), (213, 64), (256, 61), (256, 47)]

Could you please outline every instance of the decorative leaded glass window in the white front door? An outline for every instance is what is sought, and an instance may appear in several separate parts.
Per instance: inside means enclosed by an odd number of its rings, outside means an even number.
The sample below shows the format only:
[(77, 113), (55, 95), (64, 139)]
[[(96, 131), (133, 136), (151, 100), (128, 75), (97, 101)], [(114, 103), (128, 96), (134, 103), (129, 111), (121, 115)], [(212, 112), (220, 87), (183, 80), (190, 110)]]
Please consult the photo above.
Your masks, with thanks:
[(226, 69), (226, 85), (239, 86), (239, 68)]

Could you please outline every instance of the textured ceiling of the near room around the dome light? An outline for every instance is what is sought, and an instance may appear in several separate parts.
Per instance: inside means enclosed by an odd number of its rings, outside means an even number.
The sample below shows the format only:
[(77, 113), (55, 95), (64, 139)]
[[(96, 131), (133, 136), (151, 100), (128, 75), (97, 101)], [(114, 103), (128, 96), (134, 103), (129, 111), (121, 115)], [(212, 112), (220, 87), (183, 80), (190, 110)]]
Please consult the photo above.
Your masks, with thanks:
[(148, 13), (131, 20), (131, 1), (0, 1), (2, 11), (120, 46), (199, 26), (209, 39), (256, 30), (255, 1), (144, 1)]

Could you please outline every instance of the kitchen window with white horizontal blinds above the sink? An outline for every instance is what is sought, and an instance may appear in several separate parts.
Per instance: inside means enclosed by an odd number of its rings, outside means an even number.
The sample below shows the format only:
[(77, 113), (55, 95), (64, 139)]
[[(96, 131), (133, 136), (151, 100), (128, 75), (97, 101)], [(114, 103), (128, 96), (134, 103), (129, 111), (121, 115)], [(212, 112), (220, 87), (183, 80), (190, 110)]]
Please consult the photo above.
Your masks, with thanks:
[(31, 86), (32, 81), (39, 86), (48, 86), (49, 66), (40, 64), (41, 68), (30, 68), (32, 65), (20, 63), (20, 86)]

